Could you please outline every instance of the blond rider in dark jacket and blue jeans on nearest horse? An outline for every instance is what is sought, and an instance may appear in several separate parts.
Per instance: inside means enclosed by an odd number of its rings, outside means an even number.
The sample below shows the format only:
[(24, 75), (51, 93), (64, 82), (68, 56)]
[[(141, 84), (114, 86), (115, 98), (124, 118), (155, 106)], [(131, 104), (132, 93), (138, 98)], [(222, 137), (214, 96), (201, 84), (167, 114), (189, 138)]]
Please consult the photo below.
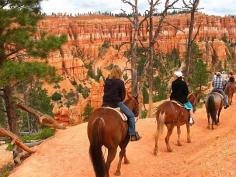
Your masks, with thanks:
[(122, 72), (119, 66), (113, 66), (110, 75), (105, 80), (103, 105), (111, 107), (119, 107), (128, 118), (129, 135), (131, 141), (137, 141), (141, 137), (135, 131), (134, 113), (123, 103), (126, 91), (124, 82), (121, 80)]

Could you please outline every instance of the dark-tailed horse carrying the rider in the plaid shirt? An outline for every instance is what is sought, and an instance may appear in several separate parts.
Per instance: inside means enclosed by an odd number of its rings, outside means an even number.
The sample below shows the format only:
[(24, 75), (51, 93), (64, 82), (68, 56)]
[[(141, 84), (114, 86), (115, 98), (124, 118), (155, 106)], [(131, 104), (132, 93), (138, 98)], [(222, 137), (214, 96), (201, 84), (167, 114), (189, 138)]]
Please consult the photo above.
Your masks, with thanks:
[(214, 124), (218, 125), (220, 122), (220, 112), (223, 107), (223, 96), (218, 92), (212, 92), (208, 95), (205, 107), (208, 118), (208, 128), (210, 128), (210, 117), (211, 117), (211, 128), (214, 129)]

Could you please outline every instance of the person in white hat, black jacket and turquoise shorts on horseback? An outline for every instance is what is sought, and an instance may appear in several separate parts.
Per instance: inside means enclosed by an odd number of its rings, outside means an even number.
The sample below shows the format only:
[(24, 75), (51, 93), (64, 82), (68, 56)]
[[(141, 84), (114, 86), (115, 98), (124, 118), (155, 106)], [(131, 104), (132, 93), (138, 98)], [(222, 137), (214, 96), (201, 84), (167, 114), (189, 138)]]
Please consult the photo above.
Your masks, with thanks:
[(190, 112), (189, 124), (193, 125), (194, 124), (193, 106), (188, 101), (188, 94), (189, 94), (188, 86), (186, 82), (183, 80), (183, 73), (181, 71), (175, 71), (174, 75), (175, 75), (175, 80), (172, 82), (171, 85), (172, 93), (170, 95), (170, 99), (182, 103), (185, 109), (189, 110)]

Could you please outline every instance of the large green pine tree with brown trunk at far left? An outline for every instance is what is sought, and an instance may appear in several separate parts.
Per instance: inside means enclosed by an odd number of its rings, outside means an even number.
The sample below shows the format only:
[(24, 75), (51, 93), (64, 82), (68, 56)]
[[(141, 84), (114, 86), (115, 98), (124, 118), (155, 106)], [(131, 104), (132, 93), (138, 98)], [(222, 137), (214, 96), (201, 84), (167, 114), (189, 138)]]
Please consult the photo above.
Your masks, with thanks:
[[(14, 133), (17, 133), (13, 97), (15, 83), (37, 77), (39, 72), (45, 71), (45, 67), (40, 68), (36, 63), (23, 63), (24, 59), (46, 58), (50, 51), (59, 49), (66, 41), (65, 35), (55, 37), (38, 30), (37, 22), (43, 17), (40, 12), (41, 1), (0, 0), (0, 89), (3, 92), (9, 127)], [(8, 62), (9, 60), (14, 62)]]

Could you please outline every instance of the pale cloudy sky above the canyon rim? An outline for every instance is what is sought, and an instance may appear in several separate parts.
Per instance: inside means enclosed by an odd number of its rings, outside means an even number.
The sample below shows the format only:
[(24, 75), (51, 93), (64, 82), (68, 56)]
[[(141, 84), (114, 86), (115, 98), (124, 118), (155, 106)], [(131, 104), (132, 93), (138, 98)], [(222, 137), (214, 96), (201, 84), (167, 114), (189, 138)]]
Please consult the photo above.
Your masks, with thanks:
[[(148, 0), (139, 0), (138, 2), (139, 9), (143, 13), (147, 9)], [(179, 3), (178, 7), (181, 6)], [(52, 12), (67, 14), (98, 11), (120, 13), (121, 9), (127, 12), (131, 10), (121, 0), (44, 0), (41, 7), (42, 11), (48, 15)], [(199, 8), (202, 8), (201, 11), (209, 15), (236, 15), (236, 0), (200, 0)]]

